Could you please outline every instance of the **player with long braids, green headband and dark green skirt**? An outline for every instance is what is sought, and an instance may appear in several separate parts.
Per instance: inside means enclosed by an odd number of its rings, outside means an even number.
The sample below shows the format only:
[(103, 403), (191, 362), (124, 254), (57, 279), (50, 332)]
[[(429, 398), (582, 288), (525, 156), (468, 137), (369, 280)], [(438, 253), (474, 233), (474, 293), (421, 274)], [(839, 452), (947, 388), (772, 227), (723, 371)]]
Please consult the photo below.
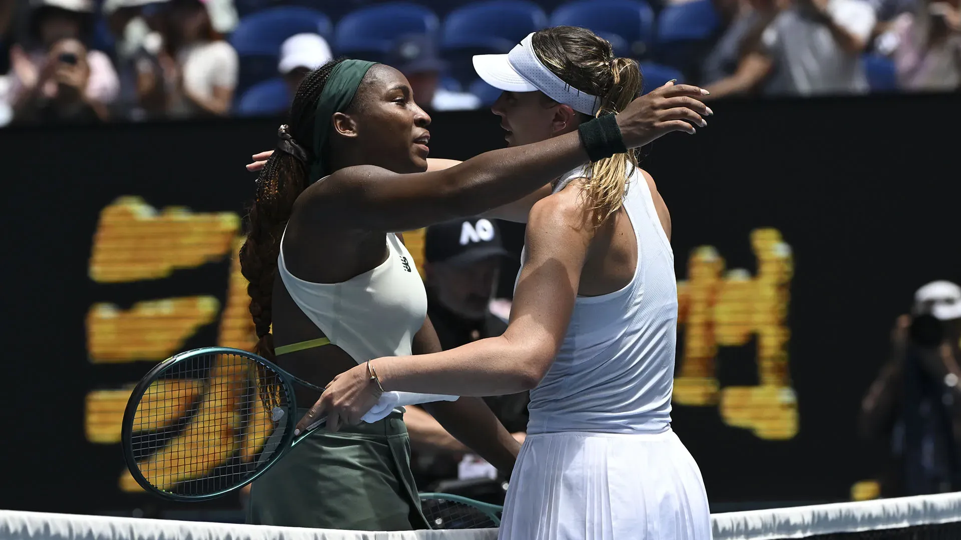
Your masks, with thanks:
[[(257, 352), (319, 384), (375, 357), (438, 352), (423, 282), (394, 232), (500, 207), (588, 160), (690, 133), (705, 113), (692, 97), (701, 95), (664, 86), (579, 131), (432, 170), (431, 119), (401, 73), (355, 60), (311, 72), (259, 174), (240, 253)], [(376, 388), (373, 375), (367, 384)], [(298, 396), (305, 405), (315, 399)], [(429, 410), (496, 467), (513, 467), (519, 445), (480, 398)], [(402, 410), (352, 426), (334, 418), (253, 483), (249, 521), (429, 528), (408, 451)]]

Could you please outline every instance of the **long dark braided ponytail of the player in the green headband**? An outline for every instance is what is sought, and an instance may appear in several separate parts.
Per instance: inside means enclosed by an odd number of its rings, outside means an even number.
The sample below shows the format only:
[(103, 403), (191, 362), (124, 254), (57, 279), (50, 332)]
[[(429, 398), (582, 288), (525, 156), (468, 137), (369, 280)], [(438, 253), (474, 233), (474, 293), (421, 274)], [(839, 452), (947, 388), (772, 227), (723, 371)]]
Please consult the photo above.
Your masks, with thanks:
[(249, 283), (250, 314), (258, 337), (255, 352), (269, 360), (275, 357), (270, 326), (281, 237), (294, 201), (309, 184), (319, 180), (308, 177), (314, 110), (333, 67), (339, 62), (329, 61), (311, 71), (298, 86), (290, 106), (289, 126), (281, 126), (278, 132), (277, 149), (260, 171), (257, 198), (247, 214), (248, 233), (240, 248), (240, 272)]

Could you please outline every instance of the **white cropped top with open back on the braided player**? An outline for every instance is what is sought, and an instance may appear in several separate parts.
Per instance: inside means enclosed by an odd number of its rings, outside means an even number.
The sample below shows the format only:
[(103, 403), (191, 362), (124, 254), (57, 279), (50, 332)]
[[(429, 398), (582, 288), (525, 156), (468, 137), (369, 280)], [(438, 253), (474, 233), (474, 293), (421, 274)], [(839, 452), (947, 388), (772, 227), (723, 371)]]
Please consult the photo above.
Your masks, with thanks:
[(339, 283), (305, 282), (287, 271), (283, 236), (277, 268), (290, 297), (327, 338), (358, 364), (381, 356), (410, 355), (424, 326), (427, 292), (407, 248), (387, 233), (387, 259)]

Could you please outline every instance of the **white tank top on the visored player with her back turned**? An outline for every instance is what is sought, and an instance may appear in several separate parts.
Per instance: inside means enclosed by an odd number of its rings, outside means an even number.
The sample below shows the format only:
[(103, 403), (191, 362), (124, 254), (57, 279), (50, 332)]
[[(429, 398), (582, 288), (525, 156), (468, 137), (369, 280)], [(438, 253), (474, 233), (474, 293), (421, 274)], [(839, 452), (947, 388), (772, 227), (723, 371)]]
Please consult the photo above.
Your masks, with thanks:
[[(674, 252), (644, 176), (629, 166), (628, 173), (624, 209), (637, 238), (633, 279), (620, 290), (577, 298), (554, 365), (530, 391), (529, 433), (670, 426), (678, 327)], [(569, 172), (554, 193), (583, 176), (581, 167)], [(527, 254), (521, 257), (526, 261)]]

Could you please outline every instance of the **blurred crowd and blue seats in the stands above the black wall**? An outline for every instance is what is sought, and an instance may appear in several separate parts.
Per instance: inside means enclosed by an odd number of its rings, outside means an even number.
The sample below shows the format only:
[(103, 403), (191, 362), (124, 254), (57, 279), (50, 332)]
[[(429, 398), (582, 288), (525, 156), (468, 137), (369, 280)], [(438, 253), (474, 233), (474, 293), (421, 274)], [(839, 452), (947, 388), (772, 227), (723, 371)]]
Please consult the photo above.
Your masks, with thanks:
[[(429, 110), (480, 109), (498, 95), (480, 81), (452, 75), (452, 67), (469, 66), (469, 56), (451, 53), (448, 41), (455, 31), (446, 26), (425, 32), (407, 31), (400, 23), (396, 28), (378, 26), (374, 32), (387, 37), (389, 46), (358, 52), (340, 46), (339, 26), (336, 33), (324, 24), (317, 24), (316, 32), (303, 32), (275, 16), (273, 27), (248, 25), (244, 42), (258, 32), (255, 27), (262, 28), (259, 32), (270, 36), (255, 38), (261, 48), (272, 49), (249, 57), (237, 50), (239, 37), (234, 39), (234, 32), (239, 33), (245, 21), (256, 22), (272, 11), (277, 14), (293, 2), (237, 2), (235, 6), (234, 0), (0, 0), (0, 125), (278, 114), (308, 70), (341, 54), (368, 56), (401, 69), (414, 86), (417, 101)], [(257, 5), (249, 6), (252, 2)], [(317, 12), (328, 27), (333, 27), (330, 21), (335, 16), (343, 21), (351, 10), (379, 4), (296, 3), (298, 9)], [(590, 6), (576, 5), (585, 3)], [(671, 78), (705, 86), (713, 99), (955, 91), (961, 86), (961, 0), (538, 4), (526, 4), (535, 11), (524, 15), (532, 16), (530, 25), (591, 28), (608, 38), (618, 55), (641, 62), (647, 89)], [(472, 8), (450, 3), (451, 9), (456, 6)], [(437, 7), (424, 9), (444, 25), (453, 16)], [(626, 9), (638, 17), (637, 25), (625, 26)], [(521, 16), (504, 13), (505, 24), (487, 30), (481, 25), (472, 32), (496, 34), (512, 27), (510, 16)], [(526, 34), (524, 25), (513, 26), (510, 32)], [(430, 21), (426, 27), (431, 27)], [(490, 43), (492, 52), (506, 52), (497, 49), (509, 49), (521, 37), (492, 36), (479, 42)], [(266, 71), (264, 57), (270, 64)]]

